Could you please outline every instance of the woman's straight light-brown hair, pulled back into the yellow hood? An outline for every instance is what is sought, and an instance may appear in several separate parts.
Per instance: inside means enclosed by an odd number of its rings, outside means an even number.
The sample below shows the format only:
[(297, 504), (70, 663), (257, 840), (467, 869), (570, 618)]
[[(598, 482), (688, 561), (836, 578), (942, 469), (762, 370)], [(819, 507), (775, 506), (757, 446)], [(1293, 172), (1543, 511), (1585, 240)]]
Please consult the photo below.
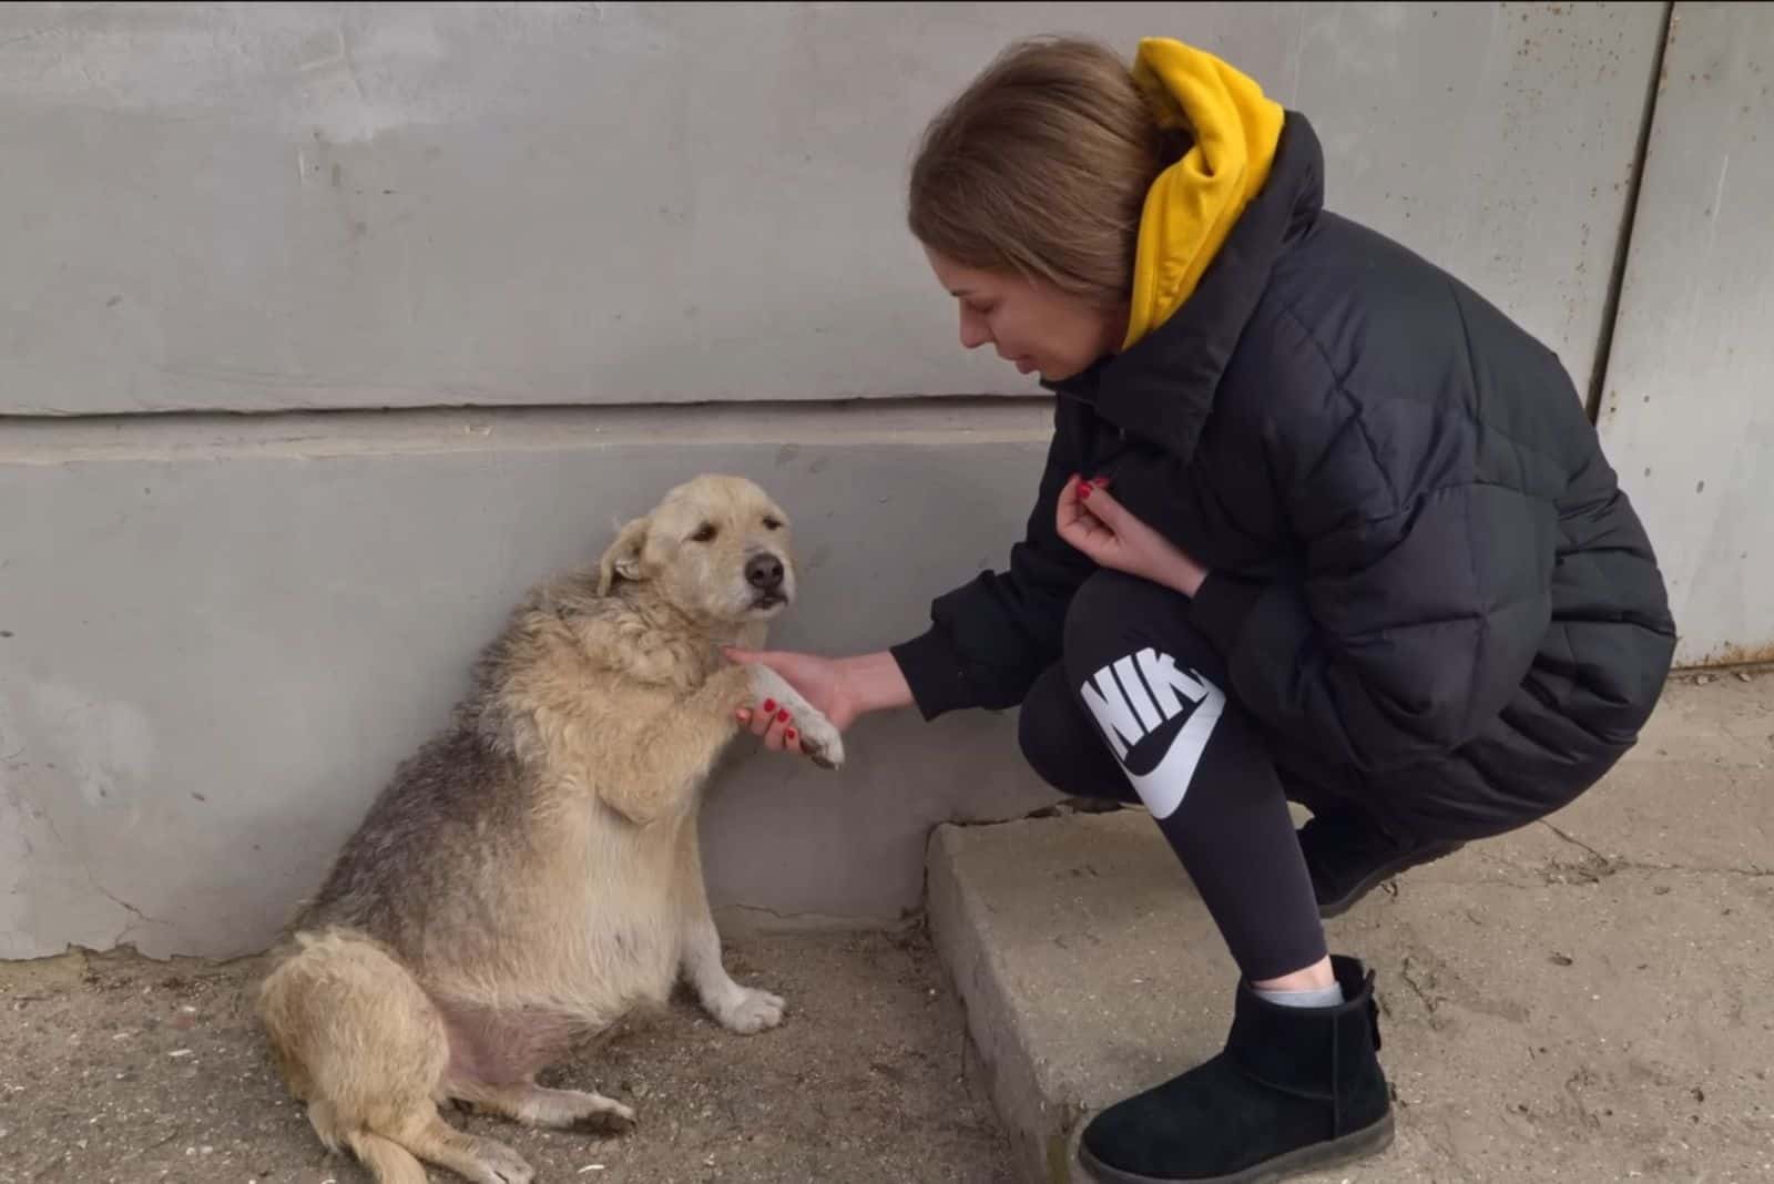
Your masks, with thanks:
[(1114, 307), (1132, 289), (1146, 190), (1187, 147), (1158, 129), (1112, 50), (1024, 41), (924, 131), (907, 222), (967, 268)]

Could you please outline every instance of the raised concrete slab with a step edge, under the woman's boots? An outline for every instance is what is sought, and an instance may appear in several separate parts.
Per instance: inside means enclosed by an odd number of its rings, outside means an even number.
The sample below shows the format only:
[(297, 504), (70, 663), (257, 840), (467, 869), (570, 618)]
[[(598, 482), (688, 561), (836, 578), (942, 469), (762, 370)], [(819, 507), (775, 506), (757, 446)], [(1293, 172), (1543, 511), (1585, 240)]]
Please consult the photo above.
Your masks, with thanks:
[[(1378, 971), (1398, 1141), (1343, 1180), (1774, 1175), (1774, 677), (1671, 684), (1545, 822), (1330, 922)], [(1142, 810), (944, 826), (930, 927), (1029, 1180), (1212, 1056), (1236, 971)]]

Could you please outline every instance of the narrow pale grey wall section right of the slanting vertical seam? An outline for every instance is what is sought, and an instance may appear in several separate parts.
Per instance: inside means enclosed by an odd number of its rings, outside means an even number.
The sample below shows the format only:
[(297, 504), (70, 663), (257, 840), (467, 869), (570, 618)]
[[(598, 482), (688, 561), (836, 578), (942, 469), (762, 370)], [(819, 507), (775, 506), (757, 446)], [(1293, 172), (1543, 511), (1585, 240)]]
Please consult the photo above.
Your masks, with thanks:
[(1598, 425), (1676, 661), (1774, 659), (1774, 5), (1678, 4)]

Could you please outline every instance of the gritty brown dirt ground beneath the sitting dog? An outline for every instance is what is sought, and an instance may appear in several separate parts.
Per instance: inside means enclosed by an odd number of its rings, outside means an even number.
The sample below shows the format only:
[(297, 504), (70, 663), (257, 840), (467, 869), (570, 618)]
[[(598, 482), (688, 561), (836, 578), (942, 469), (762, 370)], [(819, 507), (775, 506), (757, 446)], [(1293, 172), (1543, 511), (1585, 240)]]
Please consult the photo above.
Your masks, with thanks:
[[(922, 932), (768, 934), (733, 943), (727, 964), (788, 998), (781, 1028), (736, 1037), (679, 1000), (545, 1078), (635, 1106), (633, 1133), (451, 1120), (550, 1182), (1011, 1180)], [(252, 971), (133, 955), (0, 962), (0, 1184), (369, 1180), (321, 1149), (275, 1078), (243, 991)]]

